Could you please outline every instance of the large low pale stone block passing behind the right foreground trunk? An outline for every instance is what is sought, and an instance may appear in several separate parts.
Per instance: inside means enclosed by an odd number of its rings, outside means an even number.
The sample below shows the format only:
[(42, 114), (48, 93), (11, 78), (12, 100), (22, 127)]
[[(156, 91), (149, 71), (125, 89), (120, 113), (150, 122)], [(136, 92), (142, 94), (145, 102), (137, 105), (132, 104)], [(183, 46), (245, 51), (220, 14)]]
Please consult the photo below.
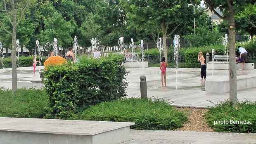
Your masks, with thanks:
[[(237, 90), (246, 90), (256, 87), (256, 73), (237, 76)], [(229, 92), (228, 76), (208, 76), (205, 82), (205, 91), (211, 93)]]

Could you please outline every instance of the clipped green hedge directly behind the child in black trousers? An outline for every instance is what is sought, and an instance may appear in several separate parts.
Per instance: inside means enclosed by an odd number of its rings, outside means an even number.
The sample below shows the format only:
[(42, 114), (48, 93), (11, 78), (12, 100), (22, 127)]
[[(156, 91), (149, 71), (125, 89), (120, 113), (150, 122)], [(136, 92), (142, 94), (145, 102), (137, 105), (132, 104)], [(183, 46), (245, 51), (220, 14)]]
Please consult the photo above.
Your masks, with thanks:
[(223, 45), (209, 45), (204, 47), (190, 47), (185, 50), (185, 67), (186, 68), (199, 68), (200, 62), (197, 61), (198, 53), (203, 52), (204, 57), (206, 53), (212, 57), (211, 50), (214, 49), (215, 55), (224, 55), (225, 49)]

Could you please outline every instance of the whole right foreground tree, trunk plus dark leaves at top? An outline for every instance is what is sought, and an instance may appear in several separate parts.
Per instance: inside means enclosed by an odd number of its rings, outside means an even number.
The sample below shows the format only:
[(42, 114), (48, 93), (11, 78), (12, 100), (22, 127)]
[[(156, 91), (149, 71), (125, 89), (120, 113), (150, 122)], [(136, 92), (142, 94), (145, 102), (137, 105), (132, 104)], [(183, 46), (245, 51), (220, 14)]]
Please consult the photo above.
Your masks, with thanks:
[[(228, 21), (228, 47), (229, 47), (229, 67), (230, 67), (230, 102), (237, 103), (237, 71), (235, 66), (235, 14), (244, 11), (244, 7), (255, 2), (254, 0), (204, 0), (205, 4), (213, 11), (220, 19)], [(216, 12), (219, 8), (224, 16)]]

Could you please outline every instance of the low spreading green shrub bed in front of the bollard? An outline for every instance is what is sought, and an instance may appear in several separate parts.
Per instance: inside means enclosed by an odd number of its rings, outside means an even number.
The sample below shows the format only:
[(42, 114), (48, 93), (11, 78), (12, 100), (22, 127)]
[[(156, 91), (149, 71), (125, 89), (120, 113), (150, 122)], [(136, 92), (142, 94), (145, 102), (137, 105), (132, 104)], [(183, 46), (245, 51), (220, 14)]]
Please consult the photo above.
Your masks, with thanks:
[(136, 130), (174, 130), (187, 116), (162, 99), (121, 99), (104, 102), (78, 113), (76, 120), (134, 122)]

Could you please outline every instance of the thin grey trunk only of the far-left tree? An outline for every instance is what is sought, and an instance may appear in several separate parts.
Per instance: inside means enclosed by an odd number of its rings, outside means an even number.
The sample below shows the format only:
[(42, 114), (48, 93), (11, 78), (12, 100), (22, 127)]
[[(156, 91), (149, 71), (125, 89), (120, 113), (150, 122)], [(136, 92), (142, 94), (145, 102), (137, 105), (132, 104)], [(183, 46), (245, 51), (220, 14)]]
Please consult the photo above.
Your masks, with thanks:
[(12, 26), (12, 92), (17, 91), (17, 64), (16, 64), (16, 34), (17, 34), (17, 13), (14, 5), (14, 0), (11, 3), (13, 14)]

